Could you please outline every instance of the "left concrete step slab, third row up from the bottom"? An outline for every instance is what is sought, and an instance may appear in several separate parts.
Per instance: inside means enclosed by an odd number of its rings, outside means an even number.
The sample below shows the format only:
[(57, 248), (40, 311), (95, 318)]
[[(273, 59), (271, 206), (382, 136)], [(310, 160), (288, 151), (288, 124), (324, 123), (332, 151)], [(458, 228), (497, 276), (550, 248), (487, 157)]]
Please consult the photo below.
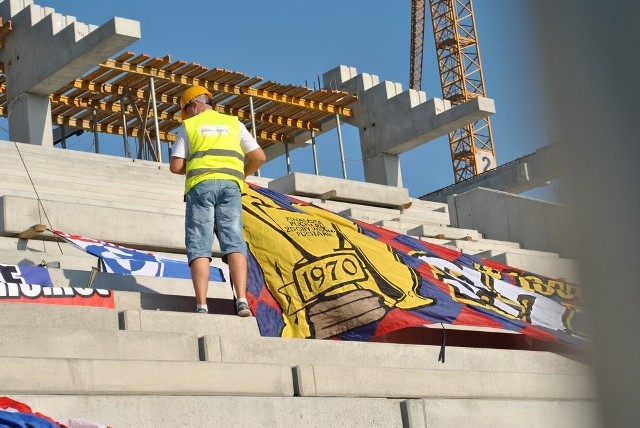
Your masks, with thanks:
[[(193, 316), (196, 316), (194, 314)], [(185, 333), (79, 327), (2, 326), (0, 356), (198, 361), (198, 339)]]

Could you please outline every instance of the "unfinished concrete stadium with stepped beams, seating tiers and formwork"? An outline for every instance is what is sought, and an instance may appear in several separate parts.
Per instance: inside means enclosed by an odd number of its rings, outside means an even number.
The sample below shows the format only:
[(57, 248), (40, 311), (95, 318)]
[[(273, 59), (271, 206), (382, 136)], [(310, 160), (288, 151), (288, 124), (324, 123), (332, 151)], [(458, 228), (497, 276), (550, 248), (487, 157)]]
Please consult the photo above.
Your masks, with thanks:
[[(342, 121), (358, 128), (365, 181), (291, 171), (249, 177), (252, 189), (268, 190), (260, 195), (335, 213), (369, 237), (433, 245), (425, 248), (450, 261), (468, 256), (535, 273), (548, 280), (531, 279), (537, 292), (571, 294), (581, 278), (557, 221), (565, 207), (520, 195), (559, 175), (555, 147), (422, 198), (402, 187), (401, 153), (486, 119), (493, 100), (427, 99), (344, 65), (309, 89), (121, 53), (141, 37), (138, 22), (83, 24), (28, 0), (0, 2), (0, 17), (0, 113), (10, 135), (0, 141), (0, 395), (70, 427), (598, 426), (581, 351), (535, 328), (474, 326), (464, 312), (450, 323), (378, 326), (366, 341), (320, 324), (306, 339), (267, 337), (260, 316), (233, 315), (228, 275), (211, 284), (212, 314), (202, 316), (193, 313), (190, 279), (149, 275), (134, 262), (117, 273), (87, 248), (111, 243), (114, 253), (185, 259), (183, 178), (163, 158), (180, 126), (180, 93), (198, 84), (216, 110), (247, 125), (269, 160), (313, 147), (325, 132), (340, 135)], [(96, 141), (121, 135), (125, 148), (137, 139), (138, 150), (65, 150), (78, 132)], [(224, 273), (219, 248), (212, 251)], [(43, 270), (49, 284), (28, 282)], [(471, 305), (494, 303), (483, 296)], [(254, 313), (277, 297), (254, 296)], [(103, 298), (110, 305), (87, 303)], [(382, 323), (406, 309), (401, 302), (358, 326)], [(311, 319), (314, 309), (305, 310)]]

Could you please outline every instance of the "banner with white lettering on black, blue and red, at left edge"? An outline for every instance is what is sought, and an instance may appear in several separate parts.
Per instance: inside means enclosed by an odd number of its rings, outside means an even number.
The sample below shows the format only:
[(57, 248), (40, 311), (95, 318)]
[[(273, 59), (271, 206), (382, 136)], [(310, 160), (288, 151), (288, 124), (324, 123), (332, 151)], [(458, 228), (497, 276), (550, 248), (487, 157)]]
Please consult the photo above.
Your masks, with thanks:
[(53, 287), (46, 268), (8, 264), (0, 264), (0, 302), (115, 307), (111, 290)]

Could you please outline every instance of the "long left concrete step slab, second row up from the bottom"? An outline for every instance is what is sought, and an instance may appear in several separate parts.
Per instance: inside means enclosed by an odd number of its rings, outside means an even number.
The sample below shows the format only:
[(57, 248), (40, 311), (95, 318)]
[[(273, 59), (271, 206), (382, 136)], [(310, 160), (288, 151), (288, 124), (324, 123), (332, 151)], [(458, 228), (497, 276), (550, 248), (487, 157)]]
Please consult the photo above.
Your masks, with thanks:
[(1, 395), (293, 395), (273, 364), (0, 357), (0, 379)]

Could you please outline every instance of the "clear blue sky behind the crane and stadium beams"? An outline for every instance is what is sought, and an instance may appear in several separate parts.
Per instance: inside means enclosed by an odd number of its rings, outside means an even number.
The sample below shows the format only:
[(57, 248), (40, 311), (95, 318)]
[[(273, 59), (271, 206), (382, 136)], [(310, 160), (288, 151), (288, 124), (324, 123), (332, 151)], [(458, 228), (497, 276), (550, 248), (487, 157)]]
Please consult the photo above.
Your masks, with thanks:
[[(138, 54), (169, 54), (174, 61), (310, 87), (322, 73), (343, 64), (408, 87), (410, 0), (37, 0), (36, 4), (88, 24), (101, 25), (113, 16), (140, 21), (142, 39), (126, 49)], [(496, 103), (491, 121), (498, 164), (549, 143), (548, 127), (539, 107), (544, 95), (536, 82), (530, 4), (513, 0), (474, 2), (487, 96)], [(442, 97), (428, 13), (422, 89), (428, 98)], [(343, 125), (342, 134), (348, 178), (363, 180), (357, 130)], [(101, 137), (101, 150), (121, 154), (121, 141), (118, 137), (110, 149), (108, 140)], [(75, 149), (93, 150), (90, 133), (69, 144)], [(320, 174), (342, 176), (337, 132), (318, 138), (318, 156)], [(293, 151), (291, 165), (293, 171), (313, 173), (311, 149)], [(446, 136), (401, 155), (401, 167), (404, 187), (413, 197), (454, 182)], [(285, 175), (284, 158), (266, 164), (261, 174), (271, 178)]]

